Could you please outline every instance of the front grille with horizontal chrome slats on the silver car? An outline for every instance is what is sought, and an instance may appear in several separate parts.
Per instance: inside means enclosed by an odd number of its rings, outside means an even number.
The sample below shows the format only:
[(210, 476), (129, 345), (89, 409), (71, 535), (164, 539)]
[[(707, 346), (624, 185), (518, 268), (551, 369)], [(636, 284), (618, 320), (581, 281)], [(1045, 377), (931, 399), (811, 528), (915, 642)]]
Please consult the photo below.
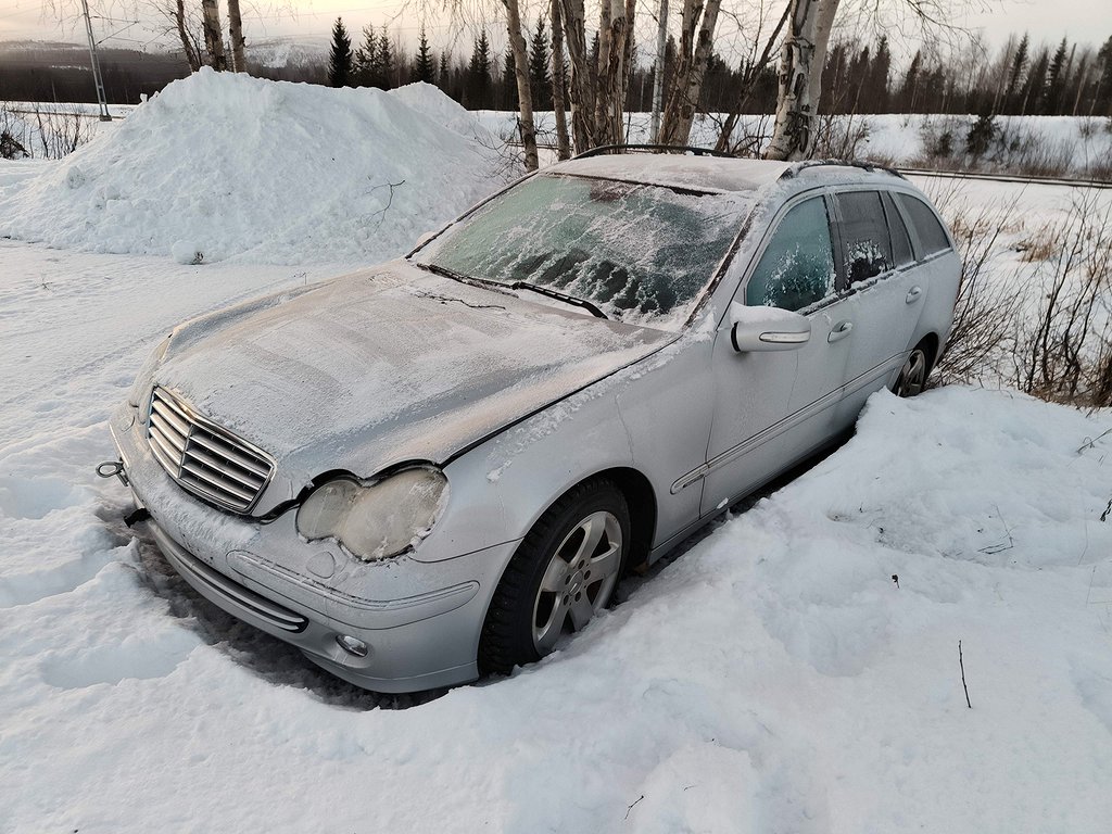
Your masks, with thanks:
[(269, 455), (163, 388), (151, 395), (147, 439), (182, 488), (235, 513), (249, 512), (274, 474)]

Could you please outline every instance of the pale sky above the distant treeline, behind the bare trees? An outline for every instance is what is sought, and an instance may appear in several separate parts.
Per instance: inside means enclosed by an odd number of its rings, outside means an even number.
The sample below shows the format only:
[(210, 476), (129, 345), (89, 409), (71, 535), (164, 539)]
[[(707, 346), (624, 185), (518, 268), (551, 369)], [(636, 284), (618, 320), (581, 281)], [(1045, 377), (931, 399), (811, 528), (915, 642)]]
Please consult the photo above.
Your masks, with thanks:
[[(897, 2), (898, 0), (891, 0)], [(135, 12), (127, 11), (141, 6), (146, 0), (130, 2), (129, 0), (90, 0), (90, 8), (98, 19), (93, 21), (98, 40), (103, 39), (106, 46), (125, 48), (156, 49), (159, 44), (158, 29), (150, 16), (139, 16), (137, 24), (130, 24)], [(641, 27), (652, 26), (647, 9), (656, 6), (658, 0), (644, 0), (641, 7), (646, 13)], [(70, 12), (66, 20), (59, 22), (49, 9), (47, 0), (0, 0), (0, 40), (82, 40), (83, 27), (78, 26), (79, 19), (73, 12), (80, 9), (77, 0), (54, 0), (52, 3)], [(438, 6), (440, 0), (431, 0), (430, 6)], [(146, 2), (147, 6), (153, 4)], [(199, 6), (199, 3), (196, 3)], [(547, 3), (544, 3), (547, 6)], [(741, 8), (744, 0), (725, 0), (726, 8)], [(753, 2), (748, 3), (749, 7)], [(975, 3), (974, 3), (975, 4)], [(1062, 37), (1082, 44), (1099, 46), (1112, 36), (1112, 0), (982, 0), (981, 7), (991, 4), (990, 11), (981, 11), (966, 16), (964, 21), (971, 28), (980, 29), (984, 39), (991, 46), (999, 46), (1011, 32), (1029, 31), (1032, 40), (1045, 40), (1056, 43)], [(502, 28), (498, 9), (500, 2), (493, 0), (489, 22), (494, 30)], [(539, 8), (537, 0), (526, 0), (527, 12)], [(674, 12), (679, 2), (671, 3)], [(410, 3), (409, 9), (414, 8)], [(267, 4), (266, 0), (257, 3), (245, 2), (244, 29), (248, 44), (271, 37), (326, 37), (332, 20), (342, 16), (348, 28), (357, 33), (366, 23), (381, 26), (389, 22), (390, 28), (399, 30), (405, 41), (414, 38), (417, 19), (407, 13), (401, 0), (317, 0), (316, 2), (289, 2), (282, 6)], [(221, 12), (225, 6), (221, 2)], [(673, 14), (673, 29), (678, 27), (678, 16)], [(530, 14), (532, 18), (532, 14)], [(961, 22), (961, 21), (955, 21)], [(429, 39), (434, 48), (451, 46), (455, 39), (459, 43), (459, 28), (438, 20), (428, 20)], [(502, 40), (502, 38), (498, 38)], [(898, 38), (894, 38), (898, 40)], [(464, 39), (459, 49), (469, 49), (470, 36)], [(902, 51), (902, 50), (901, 50)]]

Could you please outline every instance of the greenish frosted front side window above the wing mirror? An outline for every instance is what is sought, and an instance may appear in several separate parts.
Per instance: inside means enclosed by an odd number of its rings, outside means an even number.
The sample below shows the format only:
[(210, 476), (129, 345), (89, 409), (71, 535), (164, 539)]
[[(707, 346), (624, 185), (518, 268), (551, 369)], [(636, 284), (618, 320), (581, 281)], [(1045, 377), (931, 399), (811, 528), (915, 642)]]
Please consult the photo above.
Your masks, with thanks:
[(780, 221), (749, 277), (745, 304), (800, 310), (834, 294), (834, 275), (826, 201), (813, 197)]

